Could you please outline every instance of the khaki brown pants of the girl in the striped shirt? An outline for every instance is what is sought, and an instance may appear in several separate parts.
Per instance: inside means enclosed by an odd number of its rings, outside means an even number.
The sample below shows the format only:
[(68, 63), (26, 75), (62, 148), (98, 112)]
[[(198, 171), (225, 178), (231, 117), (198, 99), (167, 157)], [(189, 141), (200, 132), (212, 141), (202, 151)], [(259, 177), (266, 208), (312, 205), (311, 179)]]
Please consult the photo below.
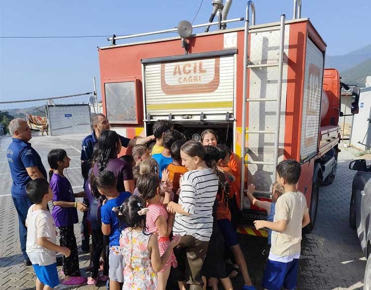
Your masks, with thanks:
[(180, 246), (186, 250), (185, 283), (189, 290), (202, 290), (201, 269), (206, 257), (209, 242), (200, 241), (190, 235), (181, 237)]

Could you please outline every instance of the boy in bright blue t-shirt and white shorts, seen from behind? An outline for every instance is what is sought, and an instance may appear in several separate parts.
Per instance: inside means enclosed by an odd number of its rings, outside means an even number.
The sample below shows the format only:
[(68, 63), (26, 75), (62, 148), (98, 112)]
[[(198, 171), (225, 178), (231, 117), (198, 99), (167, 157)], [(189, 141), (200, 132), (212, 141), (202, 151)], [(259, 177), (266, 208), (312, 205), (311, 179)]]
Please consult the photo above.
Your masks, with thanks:
[(124, 259), (120, 250), (120, 235), (123, 230), (120, 221), (112, 208), (121, 204), (132, 194), (129, 192), (119, 193), (116, 189), (116, 178), (113, 172), (103, 170), (94, 178), (94, 184), (98, 192), (107, 197), (107, 201), (100, 208), (102, 220), (102, 233), (109, 236), (109, 289), (120, 290), (120, 283), (124, 282)]

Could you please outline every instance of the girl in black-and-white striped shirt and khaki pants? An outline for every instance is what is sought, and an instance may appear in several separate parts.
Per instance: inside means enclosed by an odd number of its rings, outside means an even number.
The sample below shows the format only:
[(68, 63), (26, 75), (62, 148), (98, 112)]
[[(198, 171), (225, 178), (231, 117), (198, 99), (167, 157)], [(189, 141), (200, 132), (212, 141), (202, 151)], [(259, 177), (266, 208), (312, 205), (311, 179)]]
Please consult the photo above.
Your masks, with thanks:
[[(179, 203), (170, 201), (167, 210), (175, 213), (173, 233), (181, 236), (180, 246), (187, 253), (186, 284), (202, 290), (201, 268), (213, 232), (213, 205), (218, 193), (218, 178), (207, 167), (204, 146), (188, 141), (181, 147), (182, 165), (189, 171), (181, 179)], [(201, 263), (202, 262), (202, 263)]]

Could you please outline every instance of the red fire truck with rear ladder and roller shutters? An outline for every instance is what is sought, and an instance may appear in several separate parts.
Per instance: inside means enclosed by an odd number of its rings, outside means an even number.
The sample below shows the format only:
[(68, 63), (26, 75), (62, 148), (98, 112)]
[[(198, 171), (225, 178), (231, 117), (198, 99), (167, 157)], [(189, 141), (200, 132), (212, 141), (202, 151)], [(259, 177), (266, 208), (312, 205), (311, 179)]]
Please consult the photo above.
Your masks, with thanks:
[[(237, 19), (227, 19), (232, 0), (212, 4), (208, 23), (192, 27), (183, 21), (178, 29), (113, 35), (111, 45), (99, 48), (103, 111), (112, 129), (129, 138), (152, 134), (158, 119), (172, 120), (194, 140), (204, 129), (215, 130), (219, 142), (231, 146), (244, 177), (241, 233), (251, 232), (243, 226), (248, 220), (265, 218), (250, 205), (247, 183), (256, 185), (258, 198), (271, 199), (277, 163), (298, 160), (310, 231), (319, 187), (336, 174), (339, 74), (324, 70), (326, 44), (311, 21), (300, 17), (301, 1), (294, 1), (292, 20), (281, 15), (278, 22), (259, 25), (252, 1)], [(226, 28), (237, 21), (244, 27)], [(209, 32), (210, 26), (219, 29)], [(198, 27), (205, 32), (191, 34)], [(177, 37), (116, 43), (177, 30)], [(356, 102), (353, 107), (356, 111)]]

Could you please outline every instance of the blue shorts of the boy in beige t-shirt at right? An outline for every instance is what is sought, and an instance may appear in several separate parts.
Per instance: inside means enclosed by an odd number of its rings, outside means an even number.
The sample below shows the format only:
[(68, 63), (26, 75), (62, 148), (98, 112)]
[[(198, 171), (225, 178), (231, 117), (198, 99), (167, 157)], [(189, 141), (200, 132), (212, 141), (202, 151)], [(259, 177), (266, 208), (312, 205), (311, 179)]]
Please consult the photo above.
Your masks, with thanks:
[(291, 262), (287, 263), (268, 259), (264, 271), (262, 287), (268, 290), (281, 290), (282, 287), (287, 290), (294, 290), (296, 287), (298, 268), (299, 259), (293, 259)]

